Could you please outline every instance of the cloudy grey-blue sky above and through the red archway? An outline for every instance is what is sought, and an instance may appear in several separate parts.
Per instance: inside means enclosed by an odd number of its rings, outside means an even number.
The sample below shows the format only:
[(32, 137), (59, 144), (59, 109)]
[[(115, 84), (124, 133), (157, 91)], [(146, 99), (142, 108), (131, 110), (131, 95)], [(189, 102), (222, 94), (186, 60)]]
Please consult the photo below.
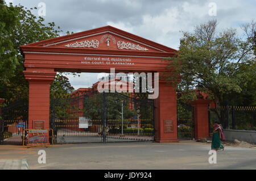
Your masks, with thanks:
[[(192, 31), (196, 24), (218, 20), (218, 30), (237, 28), (256, 17), (255, 0), (9, 0), (14, 5), (46, 5), (46, 22), (55, 22), (64, 32), (80, 32), (111, 25), (146, 39), (179, 48), (180, 31)], [(216, 14), (212, 8), (216, 5)], [(41, 6), (40, 6), (41, 7)], [(210, 11), (210, 15), (209, 15)], [(38, 11), (33, 11), (38, 15)], [(216, 15), (216, 16), (215, 16)], [(101, 75), (100, 75), (101, 76)], [(72, 86), (88, 87), (98, 74), (69, 76)]]

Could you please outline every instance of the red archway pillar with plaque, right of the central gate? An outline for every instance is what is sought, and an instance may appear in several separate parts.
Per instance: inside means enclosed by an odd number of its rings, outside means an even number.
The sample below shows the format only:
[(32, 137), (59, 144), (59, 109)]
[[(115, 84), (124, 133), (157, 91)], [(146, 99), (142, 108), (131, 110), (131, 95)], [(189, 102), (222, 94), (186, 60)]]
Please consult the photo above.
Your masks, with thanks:
[(155, 106), (155, 141), (178, 142), (176, 91), (166, 81), (159, 81), (159, 97)]

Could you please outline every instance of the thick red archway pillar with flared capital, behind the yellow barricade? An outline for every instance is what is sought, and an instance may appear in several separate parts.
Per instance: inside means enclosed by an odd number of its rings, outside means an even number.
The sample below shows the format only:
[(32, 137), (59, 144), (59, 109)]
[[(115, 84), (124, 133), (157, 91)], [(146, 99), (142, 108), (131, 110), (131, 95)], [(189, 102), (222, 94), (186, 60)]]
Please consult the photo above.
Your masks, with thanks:
[(49, 87), (55, 78), (54, 69), (27, 68), (24, 71), (29, 82), (28, 128), (33, 128), (33, 121), (45, 121), (44, 129), (49, 128)]

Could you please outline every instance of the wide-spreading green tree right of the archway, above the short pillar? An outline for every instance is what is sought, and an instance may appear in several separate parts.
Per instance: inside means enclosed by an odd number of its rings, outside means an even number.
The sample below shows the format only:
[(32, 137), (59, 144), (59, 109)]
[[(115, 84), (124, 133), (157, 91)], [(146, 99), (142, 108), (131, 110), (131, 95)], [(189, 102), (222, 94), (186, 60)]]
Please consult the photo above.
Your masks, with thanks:
[[(195, 99), (192, 90), (199, 86), (220, 105), (226, 100), (229, 104), (243, 103), (244, 96), (250, 97), (247, 104), (255, 104), (255, 27), (253, 20), (244, 24), (244, 34), (239, 37), (232, 28), (218, 33), (217, 21), (210, 20), (192, 33), (183, 32), (177, 56), (168, 58), (171, 71), (165, 78), (176, 83), (178, 91), (190, 91), (191, 99)], [(241, 96), (240, 102), (237, 96)]]

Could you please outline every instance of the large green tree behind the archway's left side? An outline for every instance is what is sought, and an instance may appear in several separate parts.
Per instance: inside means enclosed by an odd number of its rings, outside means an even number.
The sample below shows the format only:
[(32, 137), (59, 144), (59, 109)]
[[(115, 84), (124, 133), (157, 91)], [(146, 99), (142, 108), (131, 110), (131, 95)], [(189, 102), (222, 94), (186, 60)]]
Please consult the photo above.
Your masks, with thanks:
[[(36, 7), (27, 9), (22, 5), (6, 6), (2, 0), (0, 2), (0, 97), (7, 100), (27, 98), (28, 82), (23, 75), (20, 45), (57, 37), (62, 31), (60, 27), (55, 27), (54, 22), (46, 24), (43, 17), (32, 14)], [(67, 87), (63, 87), (63, 84), (68, 83), (67, 78), (56, 75), (51, 86), (52, 97), (60, 98), (61, 92), (64, 92), (62, 95), (65, 98)]]

